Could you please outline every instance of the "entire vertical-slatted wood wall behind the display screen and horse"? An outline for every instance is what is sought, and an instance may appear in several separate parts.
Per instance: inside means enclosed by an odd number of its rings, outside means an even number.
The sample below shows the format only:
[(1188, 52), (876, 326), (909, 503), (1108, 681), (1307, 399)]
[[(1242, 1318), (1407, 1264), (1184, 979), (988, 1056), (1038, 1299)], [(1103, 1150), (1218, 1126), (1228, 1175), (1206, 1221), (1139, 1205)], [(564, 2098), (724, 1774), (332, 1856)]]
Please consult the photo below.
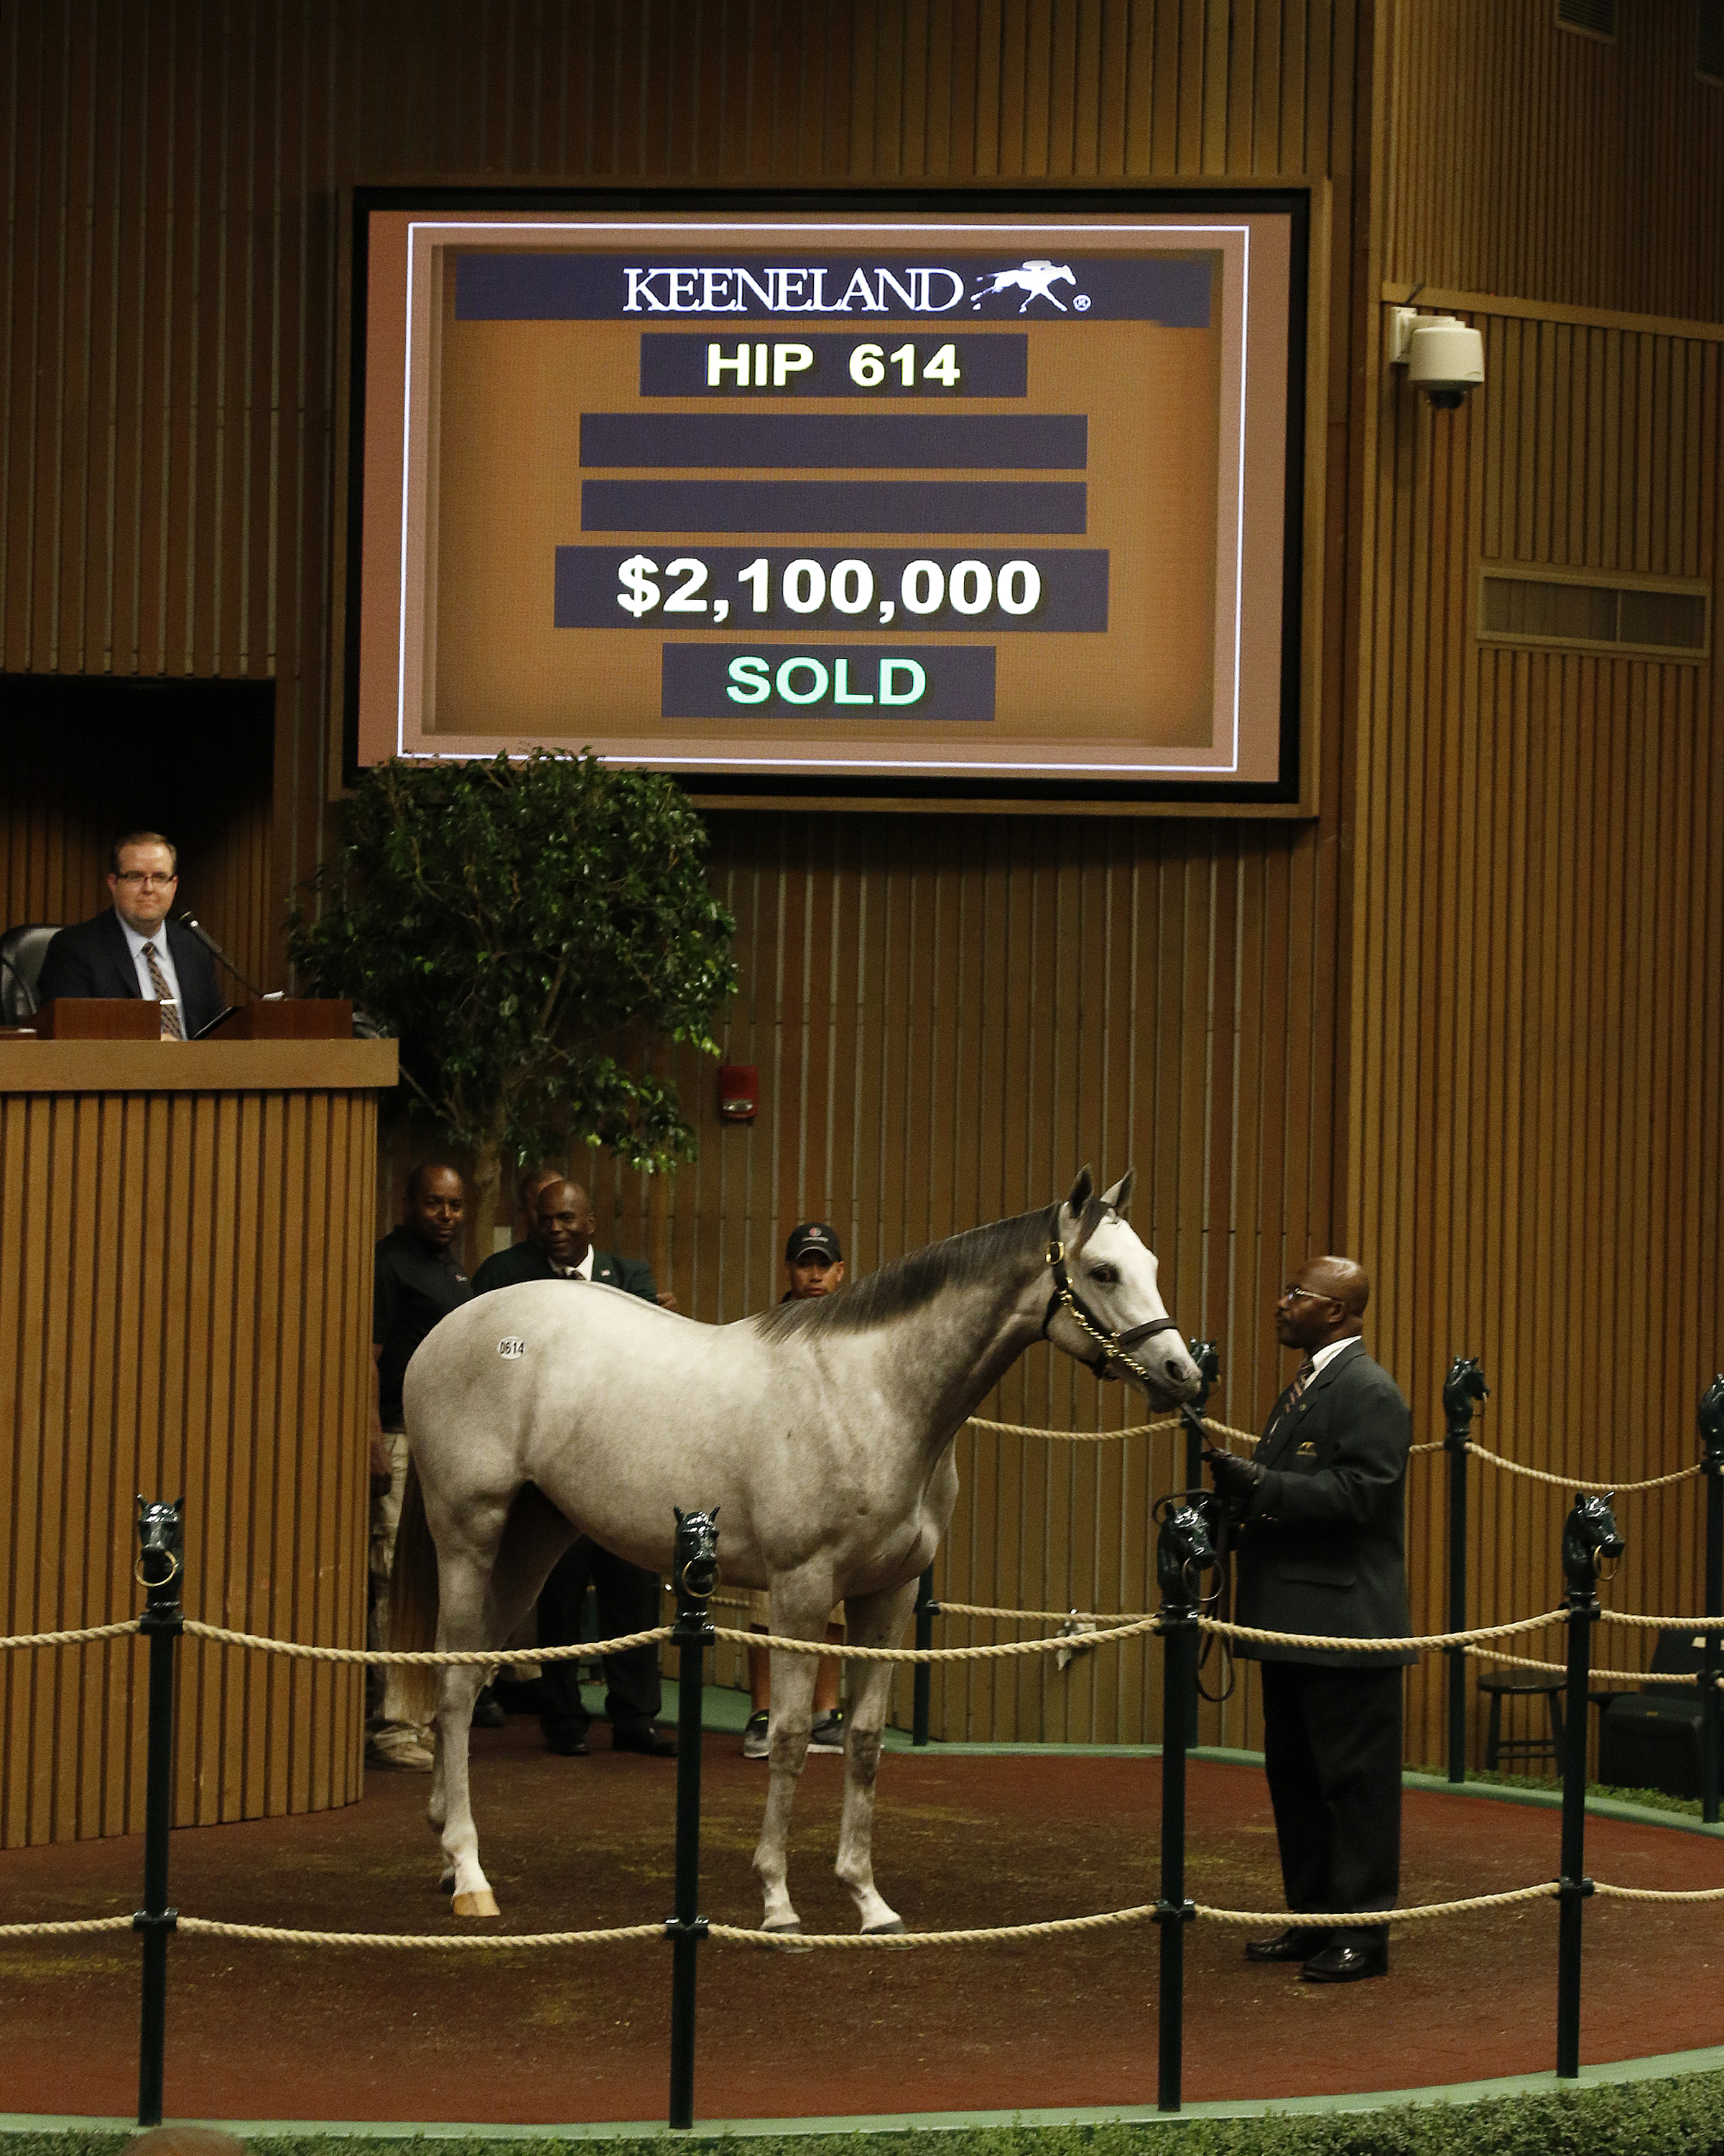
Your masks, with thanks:
[[(767, 1106), (720, 1130), (694, 1076), (700, 1169), (668, 1192), (597, 1177), (606, 1229), (731, 1315), (774, 1291), (797, 1212), (832, 1210), (866, 1266), (1131, 1151), (1170, 1300), (1226, 1341), (1231, 1419), (1274, 1393), (1284, 1261), (1355, 1240), (1420, 1434), (1474, 1348), (1504, 1432), (1511, 1404), (1515, 1434), (1552, 1432), (1599, 1388), (1657, 1464), (1690, 1363), (1724, 1358), (1694, 1227), (1718, 1218), (1711, 675), (1472, 638), (1496, 545), (1715, 580), (1713, 347), (1580, 319), (1715, 321), (1724, 298), (1720, 93), (1687, 9), (1621, 15), (1597, 47), (1545, 0), (15, 0), (0, 668), (272, 677), (269, 908), (312, 869), (353, 179), (1325, 179), (1319, 819), (713, 817), (746, 964), (726, 1046)], [(1384, 382), (1386, 280), (1537, 302), (1493, 302), (1483, 407), (1433, 425)], [(1539, 395), (1498, 403), (1528, 369)], [(1625, 1328), (1595, 1274), (1633, 1266), (1668, 1287), (1631, 1289)], [(1625, 1339), (1662, 1348), (1674, 1408), (1627, 1410)], [(1006, 1395), (1028, 1421), (1123, 1406), (1043, 1356)], [(1164, 1460), (965, 1445), (953, 1591), (1140, 1593)], [(1496, 1522), (1487, 1598), (1549, 1542), (1521, 1494)], [(1080, 1662), (1041, 1690), (953, 1680), (942, 1712), (955, 1736), (1129, 1733), (1149, 1690), (1140, 1664)], [(1211, 1733), (1250, 1742), (1241, 1697)], [(1429, 1731), (1418, 1705), (1414, 1755)]]

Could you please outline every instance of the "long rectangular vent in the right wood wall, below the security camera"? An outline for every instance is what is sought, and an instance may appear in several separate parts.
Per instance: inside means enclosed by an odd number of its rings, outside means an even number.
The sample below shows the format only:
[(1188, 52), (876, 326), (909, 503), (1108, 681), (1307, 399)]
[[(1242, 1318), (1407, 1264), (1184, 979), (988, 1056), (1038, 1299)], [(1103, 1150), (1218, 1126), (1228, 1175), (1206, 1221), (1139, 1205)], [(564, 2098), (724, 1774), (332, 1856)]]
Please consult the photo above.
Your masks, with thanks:
[(1672, 576), (1485, 563), (1478, 640), (1698, 664), (1711, 649), (1711, 586)]

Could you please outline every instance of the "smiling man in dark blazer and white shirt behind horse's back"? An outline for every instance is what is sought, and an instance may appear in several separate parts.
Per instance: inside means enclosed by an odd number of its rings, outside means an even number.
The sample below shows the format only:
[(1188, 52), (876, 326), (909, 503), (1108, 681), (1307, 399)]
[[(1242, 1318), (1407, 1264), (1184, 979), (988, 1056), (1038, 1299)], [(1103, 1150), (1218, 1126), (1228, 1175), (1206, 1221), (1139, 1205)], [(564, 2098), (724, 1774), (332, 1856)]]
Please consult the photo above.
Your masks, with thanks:
[[(580, 1184), (556, 1177), (532, 1190), (528, 1240), (487, 1257), (472, 1287), (476, 1296), (485, 1296), (522, 1281), (569, 1281), (578, 1294), (582, 1283), (593, 1281), (601, 1287), (621, 1287), (646, 1302), (659, 1300), (651, 1266), (593, 1248), (593, 1201)], [(659, 1621), (659, 1576), (599, 1548), (590, 1535), (580, 1535), (556, 1561), (539, 1593), (541, 1647), (571, 1647), (580, 1639), (588, 1585), (597, 1591), (599, 1632), (606, 1639), (649, 1632)], [(545, 1701), (539, 1727), (545, 1744), (565, 1759), (584, 1759), (593, 1716), (580, 1697), (578, 1664), (545, 1662), (539, 1682)], [(649, 1759), (677, 1757), (677, 1740), (668, 1729), (655, 1727), (662, 1697), (657, 1647), (629, 1647), (606, 1656), (612, 1751), (646, 1753)]]

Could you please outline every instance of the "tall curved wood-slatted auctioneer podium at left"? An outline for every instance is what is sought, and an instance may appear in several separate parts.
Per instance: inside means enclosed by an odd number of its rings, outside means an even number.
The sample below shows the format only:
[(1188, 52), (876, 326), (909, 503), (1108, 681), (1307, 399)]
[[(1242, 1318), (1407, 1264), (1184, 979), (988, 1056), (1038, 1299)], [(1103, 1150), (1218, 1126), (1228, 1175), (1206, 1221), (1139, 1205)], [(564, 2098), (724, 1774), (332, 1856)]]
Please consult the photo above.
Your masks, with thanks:
[[(394, 1082), (394, 1041), (0, 1039), (0, 1634), (136, 1615), (142, 1492), (187, 1617), (364, 1645)], [(144, 1658), (0, 1654), (0, 1848), (142, 1828)], [(347, 1805), (362, 1742), (360, 1667), (181, 1643), (175, 1826)]]

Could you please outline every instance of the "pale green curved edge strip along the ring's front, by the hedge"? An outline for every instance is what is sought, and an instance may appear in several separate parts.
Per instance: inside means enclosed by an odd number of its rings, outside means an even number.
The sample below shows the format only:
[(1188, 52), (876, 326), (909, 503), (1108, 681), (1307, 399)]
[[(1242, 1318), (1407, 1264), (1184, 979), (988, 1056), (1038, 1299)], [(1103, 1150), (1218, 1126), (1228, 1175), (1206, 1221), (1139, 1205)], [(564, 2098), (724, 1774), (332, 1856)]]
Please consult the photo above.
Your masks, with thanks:
[[(696, 2119), (677, 2132), (677, 2141), (737, 2139), (819, 2139), (832, 2134), (890, 2132), (970, 2132), (1002, 2126), (1179, 2126), (1187, 2119), (1267, 2119), (1321, 2117), (1323, 2113), (1403, 2111), (1409, 2104), (1485, 2104), (1506, 2096), (1556, 2096), (1560, 2089), (1618, 2087), (1633, 2081), (1681, 2081), (1687, 2074), (1724, 2072), (1724, 2044), (1705, 2050), (1668, 2050), (1651, 2059), (1616, 2059), (1608, 2065), (1582, 2065), (1577, 2081), (1556, 2074), (1504, 2074), (1500, 2081), (1457, 2081), (1429, 2089), (1375, 2089), (1347, 2096), (1265, 2096), (1239, 2102), (1185, 2104), (1183, 2111), (1157, 2111), (1151, 2098), (1142, 2106), (1095, 2104), (1073, 2111), (886, 2111), (856, 2117), (806, 2119)], [(662, 2119), (608, 2119), (603, 2124), (562, 2126), (459, 2126), (450, 2122), (405, 2119), (168, 2119), (170, 2126), (215, 2126), (244, 2141), (328, 2134), (332, 2141), (409, 2141), (425, 2134), (431, 2141), (651, 2141), (670, 2139)], [(54, 2132), (136, 2132), (131, 2119), (28, 2117), (0, 2113), (0, 2145), (4, 2134)]]

